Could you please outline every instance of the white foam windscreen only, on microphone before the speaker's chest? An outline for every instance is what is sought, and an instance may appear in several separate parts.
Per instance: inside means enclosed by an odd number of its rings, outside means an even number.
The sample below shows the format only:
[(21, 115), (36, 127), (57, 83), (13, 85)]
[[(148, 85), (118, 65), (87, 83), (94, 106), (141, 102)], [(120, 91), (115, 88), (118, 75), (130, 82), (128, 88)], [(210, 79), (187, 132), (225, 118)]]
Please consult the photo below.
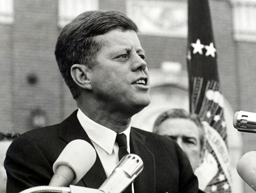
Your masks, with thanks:
[(95, 149), (85, 140), (71, 141), (63, 149), (53, 164), (55, 173), (58, 166), (69, 166), (75, 173), (75, 179), (71, 182), (75, 185), (90, 170), (96, 160)]

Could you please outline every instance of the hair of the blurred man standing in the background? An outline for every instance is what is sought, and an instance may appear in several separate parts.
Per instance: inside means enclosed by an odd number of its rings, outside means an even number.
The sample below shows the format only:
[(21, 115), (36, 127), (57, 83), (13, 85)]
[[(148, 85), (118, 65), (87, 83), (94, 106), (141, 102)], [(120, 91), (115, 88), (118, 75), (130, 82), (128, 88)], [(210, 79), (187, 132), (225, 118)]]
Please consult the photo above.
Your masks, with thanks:
[(162, 122), (164, 122), (166, 119), (172, 119), (172, 118), (189, 119), (190, 121), (193, 121), (197, 125), (198, 131), (199, 131), (200, 147), (202, 150), (205, 144), (205, 131), (204, 131), (201, 119), (197, 114), (190, 114), (184, 109), (170, 109), (161, 113), (155, 120), (155, 123), (153, 126), (153, 132), (158, 133), (159, 125), (161, 125)]

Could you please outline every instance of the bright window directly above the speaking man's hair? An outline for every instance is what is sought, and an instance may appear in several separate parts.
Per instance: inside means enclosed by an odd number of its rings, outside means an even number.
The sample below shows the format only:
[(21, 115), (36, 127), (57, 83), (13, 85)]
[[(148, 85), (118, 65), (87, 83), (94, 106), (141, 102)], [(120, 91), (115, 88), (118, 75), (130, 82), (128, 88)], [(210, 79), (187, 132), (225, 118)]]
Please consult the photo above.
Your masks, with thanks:
[(98, 9), (98, 0), (59, 0), (59, 27), (63, 28), (82, 12)]

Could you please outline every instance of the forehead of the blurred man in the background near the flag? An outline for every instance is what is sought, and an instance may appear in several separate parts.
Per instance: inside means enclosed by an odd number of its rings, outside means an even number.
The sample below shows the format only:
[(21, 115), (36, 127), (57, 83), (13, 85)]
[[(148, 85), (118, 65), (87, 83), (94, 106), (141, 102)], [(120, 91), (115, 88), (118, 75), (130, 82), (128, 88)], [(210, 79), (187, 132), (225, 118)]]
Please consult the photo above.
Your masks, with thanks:
[(169, 118), (159, 125), (159, 134), (171, 136), (186, 136), (199, 139), (197, 125), (185, 118)]

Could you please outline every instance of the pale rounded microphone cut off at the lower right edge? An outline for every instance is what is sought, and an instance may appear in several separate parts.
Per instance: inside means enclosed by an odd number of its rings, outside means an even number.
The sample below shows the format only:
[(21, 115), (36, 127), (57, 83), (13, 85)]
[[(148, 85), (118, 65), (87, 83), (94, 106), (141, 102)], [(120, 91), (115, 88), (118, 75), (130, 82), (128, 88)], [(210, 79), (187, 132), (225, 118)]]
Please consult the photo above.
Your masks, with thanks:
[(256, 151), (247, 152), (240, 158), (237, 173), (256, 191)]

